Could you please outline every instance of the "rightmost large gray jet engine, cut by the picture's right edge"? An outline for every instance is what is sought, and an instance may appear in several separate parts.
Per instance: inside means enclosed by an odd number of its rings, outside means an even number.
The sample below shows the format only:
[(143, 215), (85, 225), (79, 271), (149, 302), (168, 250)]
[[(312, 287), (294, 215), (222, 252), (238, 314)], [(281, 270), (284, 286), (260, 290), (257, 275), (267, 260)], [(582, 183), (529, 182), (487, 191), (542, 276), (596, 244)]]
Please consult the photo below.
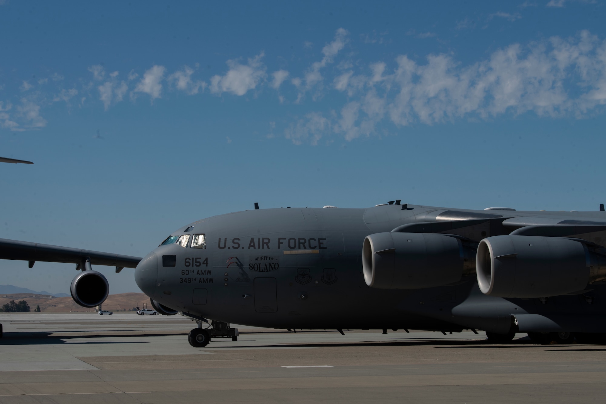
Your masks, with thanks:
[(501, 298), (565, 295), (606, 279), (606, 256), (570, 238), (488, 237), (478, 246), (476, 264), (482, 293)]

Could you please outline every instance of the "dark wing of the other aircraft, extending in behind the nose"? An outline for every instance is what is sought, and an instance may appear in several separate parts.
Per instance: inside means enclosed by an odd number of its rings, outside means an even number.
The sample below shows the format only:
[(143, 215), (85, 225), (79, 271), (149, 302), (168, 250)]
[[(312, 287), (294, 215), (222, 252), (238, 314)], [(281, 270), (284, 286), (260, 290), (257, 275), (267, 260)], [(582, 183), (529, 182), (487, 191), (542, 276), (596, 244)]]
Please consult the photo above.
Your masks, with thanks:
[(66, 262), (81, 264), (90, 258), (93, 265), (106, 265), (110, 267), (136, 268), (141, 257), (73, 249), (70, 247), (49, 246), (48, 244), (28, 243), (27, 241), (9, 240), (0, 238), (0, 259), (17, 259), (29, 261), (30, 268), (36, 261)]

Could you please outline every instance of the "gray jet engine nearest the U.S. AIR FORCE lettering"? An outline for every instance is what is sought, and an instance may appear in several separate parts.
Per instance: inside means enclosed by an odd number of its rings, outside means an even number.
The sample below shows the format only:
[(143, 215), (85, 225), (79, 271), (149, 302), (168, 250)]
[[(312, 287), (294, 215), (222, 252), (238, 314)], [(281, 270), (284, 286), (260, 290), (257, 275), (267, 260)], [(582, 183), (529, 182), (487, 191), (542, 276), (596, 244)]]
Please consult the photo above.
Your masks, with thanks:
[(451, 284), (473, 273), (474, 251), (436, 233), (375, 233), (364, 239), (362, 270), (370, 287), (421, 289)]

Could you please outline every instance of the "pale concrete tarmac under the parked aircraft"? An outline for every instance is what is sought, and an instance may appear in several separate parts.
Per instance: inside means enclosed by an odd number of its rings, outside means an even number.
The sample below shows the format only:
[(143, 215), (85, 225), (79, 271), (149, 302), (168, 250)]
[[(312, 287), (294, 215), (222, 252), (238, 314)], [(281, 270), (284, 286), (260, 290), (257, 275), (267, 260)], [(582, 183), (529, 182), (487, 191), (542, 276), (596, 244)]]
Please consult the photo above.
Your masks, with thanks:
[(484, 333), (238, 327), (132, 313), (0, 314), (0, 403), (603, 402), (606, 346), (493, 345)]

